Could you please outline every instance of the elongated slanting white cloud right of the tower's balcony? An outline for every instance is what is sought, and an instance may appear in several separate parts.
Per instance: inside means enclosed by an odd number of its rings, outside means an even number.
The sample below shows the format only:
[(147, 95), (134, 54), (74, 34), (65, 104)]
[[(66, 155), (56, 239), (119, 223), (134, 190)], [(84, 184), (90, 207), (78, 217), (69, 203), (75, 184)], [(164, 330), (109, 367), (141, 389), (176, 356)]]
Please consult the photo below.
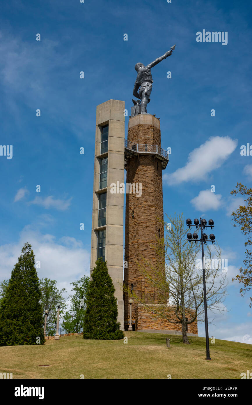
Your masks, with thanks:
[(171, 175), (163, 175), (163, 179), (169, 185), (189, 180), (202, 180), (212, 170), (220, 167), (224, 160), (227, 160), (233, 153), (236, 146), (237, 140), (233, 140), (229, 136), (212, 136), (189, 153), (184, 167), (177, 169)]

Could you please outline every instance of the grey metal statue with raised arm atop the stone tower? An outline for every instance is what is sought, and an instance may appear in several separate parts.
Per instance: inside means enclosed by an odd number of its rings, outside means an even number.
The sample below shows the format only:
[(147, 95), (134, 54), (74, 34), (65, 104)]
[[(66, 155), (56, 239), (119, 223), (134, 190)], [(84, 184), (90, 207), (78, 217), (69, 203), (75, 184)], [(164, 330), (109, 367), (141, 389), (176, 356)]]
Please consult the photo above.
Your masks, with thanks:
[[(144, 66), (144, 64), (140, 62), (136, 64), (135, 69), (138, 72), (138, 75), (133, 88), (133, 96), (141, 100), (140, 106), (141, 114), (147, 114), (146, 105), (148, 104), (148, 102), (150, 102), (150, 93), (152, 90), (152, 83), (153, 83), (150, 69), (153, 66), (157, 65), (159, 62), (161, 62), (161, 60), (166, 59), (168, 56), (171, 56), (172, 51), (175, 49), (175, 46), (176, 45), (171, 47), (170, 51), (166, 52), (163, 56), (160, 56), (160, 58), (155, 59), (154, 62), (151, 62), (147, 66)], [(140, 90), (138, 92), (139, 87)], [(140, 103), (138, 100), (132, 101), (135, 105), (136, 104), (139, 105)]]

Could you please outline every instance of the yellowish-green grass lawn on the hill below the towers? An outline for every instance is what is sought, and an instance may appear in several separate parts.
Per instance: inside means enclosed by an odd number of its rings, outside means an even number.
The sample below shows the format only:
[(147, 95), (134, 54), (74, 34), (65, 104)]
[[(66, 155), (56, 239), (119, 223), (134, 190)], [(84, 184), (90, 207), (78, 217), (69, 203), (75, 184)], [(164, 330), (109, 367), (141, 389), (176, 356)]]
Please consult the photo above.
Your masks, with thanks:
[[(0, 372), (14, 378), (232, 378), (252, 371), (252, 345), (216, 339), (205, 360), (205, 339), (125, 332), (123, 340), (61, 337), (45, 345), (0, 347)], [(165, 338), (171, 347), (166, 347)], [(211, 341), (211, 339), (210, 339)], [(50, 367), (39, 367), (49, 364)]]

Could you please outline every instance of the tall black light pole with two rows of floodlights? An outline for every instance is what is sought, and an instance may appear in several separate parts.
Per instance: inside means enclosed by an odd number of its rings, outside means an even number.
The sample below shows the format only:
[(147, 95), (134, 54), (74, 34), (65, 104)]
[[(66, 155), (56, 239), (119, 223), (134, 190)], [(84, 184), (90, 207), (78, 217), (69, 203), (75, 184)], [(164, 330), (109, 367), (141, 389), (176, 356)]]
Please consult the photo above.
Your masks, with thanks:
[(188, 241), (191, 243), (191, 241), (195, 241), (195, 243), (197, 242), (201, 242), (201, 251), (202, 251), (202, 272), (203, 272), (203, 292), (204, 292), (204, 311), (205, 311), (205, 345), (206, 345), (206, 358), (205, 360), (211, 360), (210, 357), (210, 350), (209, 350), (209, 336), (208, 336), (208, 308), (207, 308), (207, 298), (206, 298), (206, 288), (205, 288), (205, 256), (204, 256), (204, 244), (206, 242), (212, 242), (212, 244), (214, 244), (215, 242), (215, 236), (213, 233), (211, 233), (209, 235), (210, 240), (208, 240), (208, 235), (203, 233), (202, 231), (205, 228), (211, 228), (214, 229), (214, 221), (213, 220), (209, 220), (208, 221), (208, 225), (206, 220), (203, 218), (200, 218), (200, 222), (197, 218), (195, 218), (194, 220), (194, 225), (192, 225), (192, 221), (190, 220), (190, 218), (188, 218), (186, 220), (186, 225), (189, 227), (189, 229), (191, 229), (192, 226), (196, 226), (197, 228), (200, 228), (200, 232), (201, 232), (201, 239), (198, 240), (198, 234), (196, 232), (194, 232), (193, 234), (191, 234), (191, 232), (189, 232), (187, 234), (187, 239)]

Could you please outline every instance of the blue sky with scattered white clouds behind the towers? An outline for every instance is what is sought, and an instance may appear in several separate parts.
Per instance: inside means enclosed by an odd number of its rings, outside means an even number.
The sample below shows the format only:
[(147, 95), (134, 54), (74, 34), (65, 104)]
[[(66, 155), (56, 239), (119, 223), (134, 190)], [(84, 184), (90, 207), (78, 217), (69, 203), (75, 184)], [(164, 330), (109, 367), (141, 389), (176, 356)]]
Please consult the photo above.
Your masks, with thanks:
[[(134, 65), (152, 62), (176, 43), (172, 56), (152, 69), (148, 105), (160, 117), (163, 149), (172, 148), (163, 172), (164, 212), (214, 219), (228, 259), (224, 304), (230, 311), (216, 317), (209, 333), (252, 343), (249, 295), (242, 298), (231, 283), (245, 238), (230, 215), (242, 202), (231, 190), (237, 181), (248, 187), (252, 181), (252, 156), (240, 155), (241, 145), (252, 145), (251, 14), (249, 1), (1, 5), (0, 144), (13, 145), (12, 159), (0, 156), (1, 279), (10, 277), (25, 241), (41, 262), (40, 278), (68, 288), (89, 275), (96, 106), (112, 98), (125, 100), (130, 111)], [(196, 42), (203, 30), (228, 32), (227, 45)]]

